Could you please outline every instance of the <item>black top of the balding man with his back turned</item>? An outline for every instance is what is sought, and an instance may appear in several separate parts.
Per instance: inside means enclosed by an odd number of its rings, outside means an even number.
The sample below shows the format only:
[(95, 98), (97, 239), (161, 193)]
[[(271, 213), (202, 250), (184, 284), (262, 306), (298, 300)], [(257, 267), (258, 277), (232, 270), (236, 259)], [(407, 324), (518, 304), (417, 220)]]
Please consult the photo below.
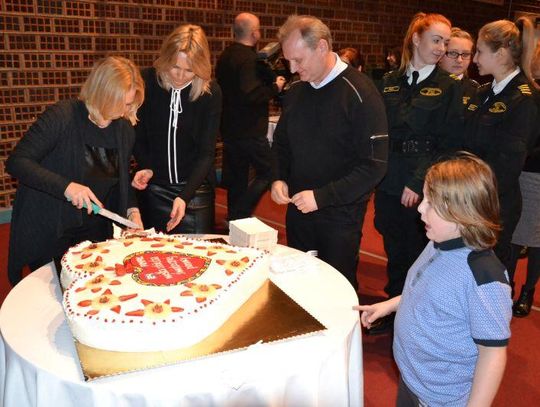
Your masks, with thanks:
[(278, 87), (270, 68), (257, 61), (255, 49), (237, 42), (225, 48), (216, 79), (223, 91), (223, 139), (266, 136), (268, 102)]

